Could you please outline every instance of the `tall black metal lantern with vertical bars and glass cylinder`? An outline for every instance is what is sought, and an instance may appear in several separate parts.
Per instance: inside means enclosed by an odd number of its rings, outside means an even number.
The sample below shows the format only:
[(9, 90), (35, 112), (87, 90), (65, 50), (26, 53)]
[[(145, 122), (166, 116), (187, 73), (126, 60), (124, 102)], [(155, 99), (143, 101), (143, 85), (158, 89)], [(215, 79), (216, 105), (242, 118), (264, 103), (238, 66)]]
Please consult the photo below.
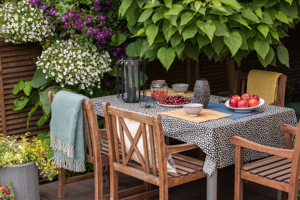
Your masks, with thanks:
[(145, 61), (139, 57), (123, 57), (117, 61), (116, 66), (117, 84), (121, 86), (120, 89), (117, 88), (118, 97), (126, 103), (139, 102), (146, 93)]

